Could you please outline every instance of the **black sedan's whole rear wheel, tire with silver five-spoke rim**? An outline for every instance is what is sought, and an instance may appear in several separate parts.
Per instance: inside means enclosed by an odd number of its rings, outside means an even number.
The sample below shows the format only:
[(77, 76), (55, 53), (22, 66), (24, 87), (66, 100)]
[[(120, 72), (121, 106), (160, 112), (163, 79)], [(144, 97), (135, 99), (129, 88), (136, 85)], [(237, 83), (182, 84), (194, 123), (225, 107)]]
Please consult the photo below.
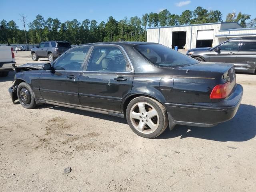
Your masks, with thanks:
[(155, 138), (168, 125), (166, 109), (158, 101), (148, 97), (134, 98), (127, 106), (126, 120), (139, 136)]

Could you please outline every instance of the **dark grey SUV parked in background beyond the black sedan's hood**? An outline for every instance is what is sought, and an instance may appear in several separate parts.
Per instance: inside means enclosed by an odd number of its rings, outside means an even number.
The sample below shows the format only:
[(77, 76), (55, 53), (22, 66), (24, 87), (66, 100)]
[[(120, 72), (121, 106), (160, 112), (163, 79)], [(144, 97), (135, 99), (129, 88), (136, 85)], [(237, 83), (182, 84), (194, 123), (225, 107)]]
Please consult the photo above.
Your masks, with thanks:
[(70, 43), (66, 41), (42, 42), (31, 49), (32, 60), (37, 61), (38, 58), (48, 58), (52, 62), (69, 48), (71, 48)]

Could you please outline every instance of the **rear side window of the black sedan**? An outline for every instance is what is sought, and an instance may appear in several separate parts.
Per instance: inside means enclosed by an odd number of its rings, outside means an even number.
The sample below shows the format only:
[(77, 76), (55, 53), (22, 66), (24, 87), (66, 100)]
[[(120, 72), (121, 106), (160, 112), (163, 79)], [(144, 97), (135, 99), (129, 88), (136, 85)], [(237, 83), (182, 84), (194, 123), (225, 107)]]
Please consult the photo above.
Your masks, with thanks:
[(95, 46), (87, 71), (128, 72), (130, 65), (121, 50), (116, 46)]

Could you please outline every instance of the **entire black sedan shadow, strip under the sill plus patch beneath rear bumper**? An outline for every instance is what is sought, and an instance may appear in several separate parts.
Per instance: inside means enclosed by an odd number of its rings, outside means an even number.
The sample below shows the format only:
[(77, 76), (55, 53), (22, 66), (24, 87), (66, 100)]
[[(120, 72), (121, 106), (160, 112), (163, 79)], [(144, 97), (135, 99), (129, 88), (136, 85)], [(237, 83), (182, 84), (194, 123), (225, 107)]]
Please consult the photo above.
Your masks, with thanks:
[[(125, 118), (119, 118), (106, 114), (99, 114), (94, 112), (88, 112), (73, 108), (66, 108), (62, 106), (54, 106), (44, 104), (38, 106), (38, 108), (48, 108), (54, 110), (60, 110), (70, 112), (73, 114), (80, 114), (84, 116), (90, 116), (93, 118), (100, 118), (108, 121), (114, 121), (122, 124), (127, 124)], [(252, 105), (241, 104), (236, 116), (228, 122), (220, 123), (214, 127), (194, 127), (194, 126), (182, 126), (176, 125), (172, 131), (169, 127), (155, 139), (170, 139), (180, 137), (180, 139), (187, 137), (201, 138), (215, 141), (236, 141), (242, 142), (254, 138), (256, 135), (256, 107)]]

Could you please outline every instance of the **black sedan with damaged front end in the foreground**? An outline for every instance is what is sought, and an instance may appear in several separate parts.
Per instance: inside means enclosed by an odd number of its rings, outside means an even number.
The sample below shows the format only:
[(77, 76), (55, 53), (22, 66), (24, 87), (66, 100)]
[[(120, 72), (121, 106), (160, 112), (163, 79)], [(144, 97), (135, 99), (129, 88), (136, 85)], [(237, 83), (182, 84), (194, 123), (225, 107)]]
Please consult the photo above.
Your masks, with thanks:
[(168, 126), (214, 126), (230, 120), (243, 88), (233, 64), (199, 62), (161, 44), (76, 46), (54, 62), (16, 68), (9, 89), (24, 108), (48, 103), (126, 117), (139, 136)]

